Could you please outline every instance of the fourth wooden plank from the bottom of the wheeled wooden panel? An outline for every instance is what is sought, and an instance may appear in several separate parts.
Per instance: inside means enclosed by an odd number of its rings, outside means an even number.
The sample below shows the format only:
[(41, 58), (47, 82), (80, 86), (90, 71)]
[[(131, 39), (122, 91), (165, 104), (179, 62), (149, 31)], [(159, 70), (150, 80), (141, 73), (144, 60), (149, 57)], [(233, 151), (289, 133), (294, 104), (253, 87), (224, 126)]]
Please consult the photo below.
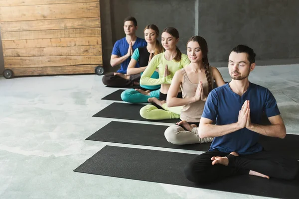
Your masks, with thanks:
[(99, 37), (71, 37), (50, 39), (4, 40), (3, 49), (102, 45)]

